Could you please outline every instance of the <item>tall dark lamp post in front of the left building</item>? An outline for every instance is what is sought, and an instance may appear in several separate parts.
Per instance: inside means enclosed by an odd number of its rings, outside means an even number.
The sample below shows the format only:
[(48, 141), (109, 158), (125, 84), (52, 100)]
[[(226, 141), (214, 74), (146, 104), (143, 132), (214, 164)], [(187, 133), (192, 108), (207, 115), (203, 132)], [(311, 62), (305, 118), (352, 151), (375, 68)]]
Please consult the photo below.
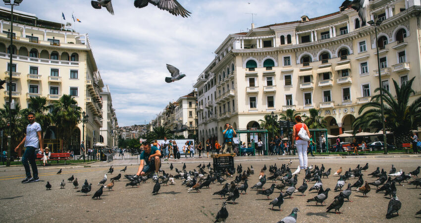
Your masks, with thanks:
[(22, 0), (14, 0), (13, 3), (10, 0), (3, 0), (5, 5), (10, 5), (10, 47), (9, 47), (9, 56), (10, 56), (10, 65), (9, 65), (9, 134), (7, 135), (7, 163), (6, 166), (10, 166), (10, 151), (12, 149), (12, 74), (13, 74), (13, 6), (19, 5)]

